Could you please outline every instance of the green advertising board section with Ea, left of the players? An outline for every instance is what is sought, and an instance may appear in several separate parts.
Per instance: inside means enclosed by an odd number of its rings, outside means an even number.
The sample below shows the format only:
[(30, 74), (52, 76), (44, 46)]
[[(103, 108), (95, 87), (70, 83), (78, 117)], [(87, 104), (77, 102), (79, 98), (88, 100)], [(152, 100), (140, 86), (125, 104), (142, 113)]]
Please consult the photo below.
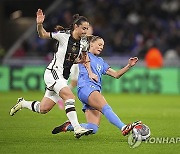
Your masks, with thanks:
[(44, 90), (45, 67), (0, 67), (0, 91)]

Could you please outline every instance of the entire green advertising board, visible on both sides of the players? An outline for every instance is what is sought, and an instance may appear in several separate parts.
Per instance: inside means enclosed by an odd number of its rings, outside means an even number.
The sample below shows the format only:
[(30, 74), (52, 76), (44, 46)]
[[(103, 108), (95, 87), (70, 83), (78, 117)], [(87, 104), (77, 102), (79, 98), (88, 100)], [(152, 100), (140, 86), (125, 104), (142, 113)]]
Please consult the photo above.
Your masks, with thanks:
[[(44, 70), (43, 66), (0, 67), (0, 91), (44, 91)], [(102, 85), (103, 92), (180, 94), (180, 70), (134, 67), (120, 79), (103, 76)]]

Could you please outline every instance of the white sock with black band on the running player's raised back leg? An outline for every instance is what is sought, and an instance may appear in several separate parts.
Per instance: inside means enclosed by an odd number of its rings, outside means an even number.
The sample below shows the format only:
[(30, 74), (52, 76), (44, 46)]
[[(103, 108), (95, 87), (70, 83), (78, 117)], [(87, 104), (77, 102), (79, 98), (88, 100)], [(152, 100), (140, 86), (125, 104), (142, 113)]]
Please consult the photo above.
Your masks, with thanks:
[(40, 113), (40, 102), (39, 101), (23, 101), (23, 108), (27, 108), (31, 111)]

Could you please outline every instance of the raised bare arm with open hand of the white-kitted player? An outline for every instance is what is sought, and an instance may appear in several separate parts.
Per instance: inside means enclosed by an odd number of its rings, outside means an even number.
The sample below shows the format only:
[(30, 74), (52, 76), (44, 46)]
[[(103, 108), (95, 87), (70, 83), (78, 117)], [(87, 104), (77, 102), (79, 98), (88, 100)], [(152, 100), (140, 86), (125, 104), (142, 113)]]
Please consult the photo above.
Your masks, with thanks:
[(36, 13), (36, 22), (37, 22), (37, 32), (40, 38), (51, 38), (50, 32), (46, 32), (46, 30), (43, 27), (43, 22), (45, 19), (45, 15), (43, 14), (41, 9), (38, 9)]

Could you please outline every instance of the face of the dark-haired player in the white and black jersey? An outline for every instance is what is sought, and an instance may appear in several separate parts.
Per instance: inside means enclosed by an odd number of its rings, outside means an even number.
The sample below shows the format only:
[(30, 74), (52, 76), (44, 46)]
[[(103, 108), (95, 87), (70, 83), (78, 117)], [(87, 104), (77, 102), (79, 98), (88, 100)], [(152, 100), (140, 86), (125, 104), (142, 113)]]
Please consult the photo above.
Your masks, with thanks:
[(82, 22), (81, 25), (76, 26), (76, 32), (79, 37), (83, 37), (87, 34), (89, 28), (89, 23), (88, 22)]

